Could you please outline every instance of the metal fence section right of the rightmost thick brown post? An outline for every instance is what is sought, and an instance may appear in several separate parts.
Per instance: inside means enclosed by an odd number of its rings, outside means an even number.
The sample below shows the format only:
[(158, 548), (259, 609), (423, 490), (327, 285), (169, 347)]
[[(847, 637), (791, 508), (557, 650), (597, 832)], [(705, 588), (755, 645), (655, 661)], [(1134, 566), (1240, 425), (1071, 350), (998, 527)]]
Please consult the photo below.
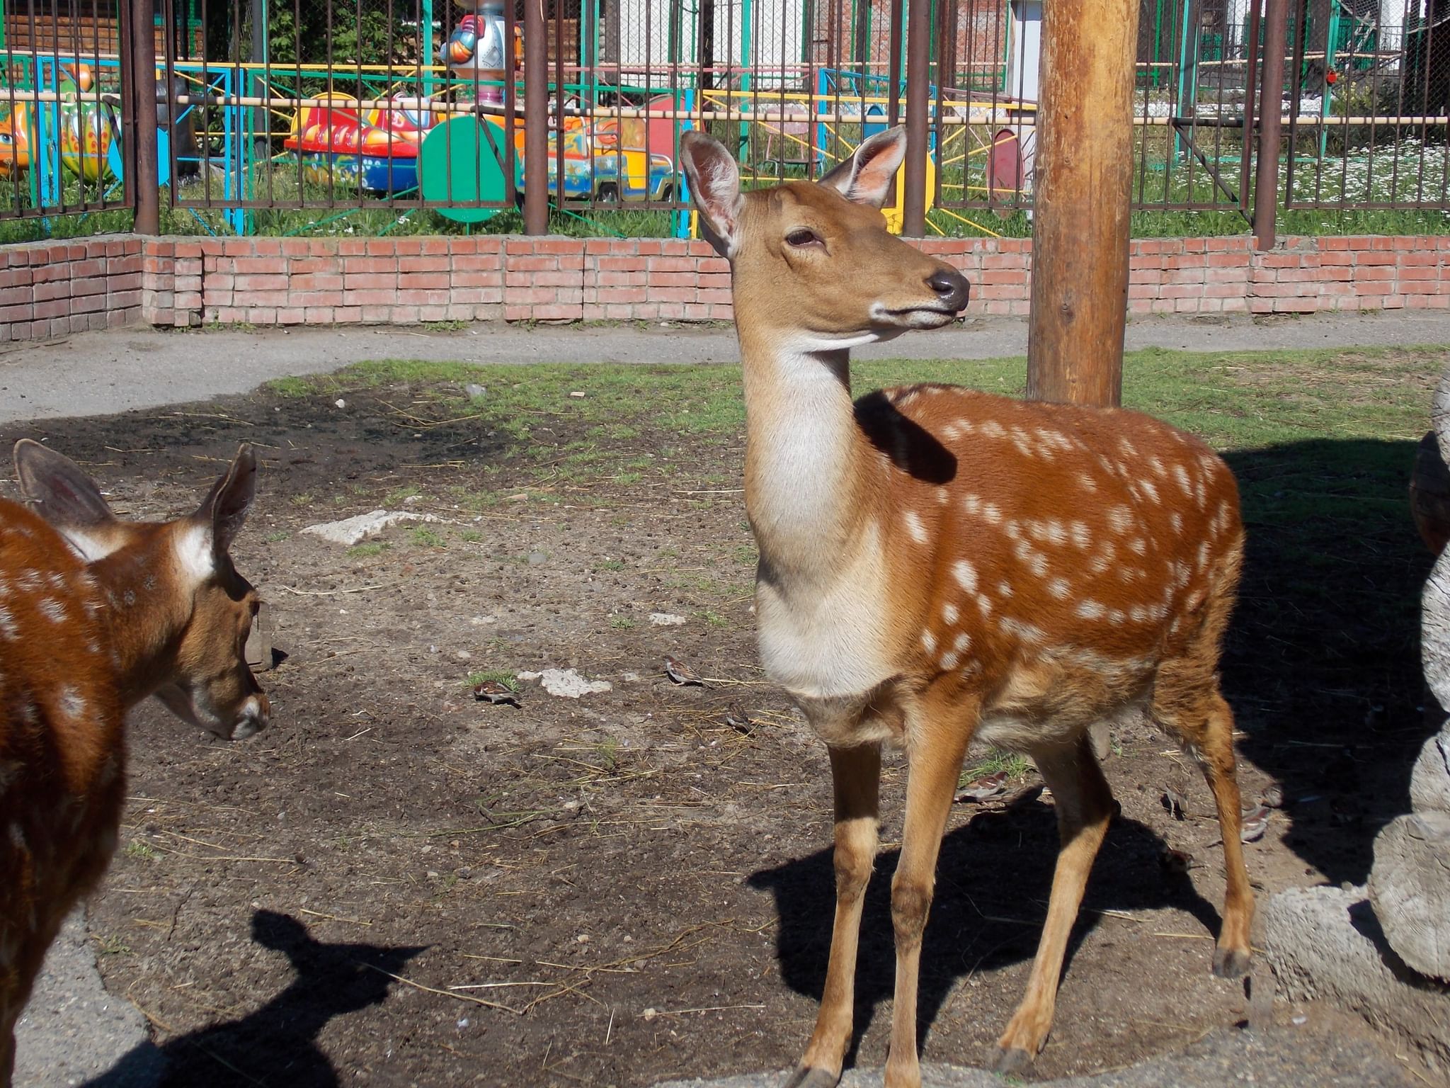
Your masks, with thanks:
[(1285, 206), (1450, 209), (1450, 3), (1292, 12)]

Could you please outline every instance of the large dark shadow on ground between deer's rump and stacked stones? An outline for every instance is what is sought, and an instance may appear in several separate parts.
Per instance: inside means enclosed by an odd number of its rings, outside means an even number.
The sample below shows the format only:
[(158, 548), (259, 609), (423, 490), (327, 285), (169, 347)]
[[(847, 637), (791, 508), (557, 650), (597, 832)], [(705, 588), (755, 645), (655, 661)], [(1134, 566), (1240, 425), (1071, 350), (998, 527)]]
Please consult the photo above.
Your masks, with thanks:
[(1367, 878), (1433, 731), (1420, 667), (1433, 557), (1409, 516), (1414, 458), (1412, 441), (1370, 440), (1227, 454), (1248, 532), (1222, 663), (1238, 751), (1283, 783), (1288, 844), (1334, 883)]

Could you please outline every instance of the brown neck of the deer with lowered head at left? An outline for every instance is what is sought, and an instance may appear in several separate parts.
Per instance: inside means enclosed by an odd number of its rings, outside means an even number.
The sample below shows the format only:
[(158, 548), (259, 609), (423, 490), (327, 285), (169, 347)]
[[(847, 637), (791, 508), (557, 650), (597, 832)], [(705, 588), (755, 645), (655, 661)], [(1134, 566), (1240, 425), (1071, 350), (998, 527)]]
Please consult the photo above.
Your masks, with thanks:
[(122, 702), (129, 709), (173, 672), (190, 596), (175, 589), (168, 541), (130, 545), (90, 564), (99, 589), (99, 621), (106, 632)]

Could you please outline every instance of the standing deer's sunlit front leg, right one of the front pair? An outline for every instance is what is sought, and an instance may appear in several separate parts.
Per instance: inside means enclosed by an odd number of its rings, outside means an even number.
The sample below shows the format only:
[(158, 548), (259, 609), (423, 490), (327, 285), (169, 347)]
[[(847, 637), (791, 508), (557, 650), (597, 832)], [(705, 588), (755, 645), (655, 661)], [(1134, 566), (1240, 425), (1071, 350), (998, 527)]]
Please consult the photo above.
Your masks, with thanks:
[(961, 760), (972, 738), (956, 714), (928, 714), (908, 730), (906, 823), (902, 854), (892, 879), (892, 923), (896, 928), (896, 1002), (892, 1010), (892, 1053), (886, 1088), (921, 1088), (916, 1062), (916, 984), (921, 939), (937, 882), (937, 854), (947, 828)]

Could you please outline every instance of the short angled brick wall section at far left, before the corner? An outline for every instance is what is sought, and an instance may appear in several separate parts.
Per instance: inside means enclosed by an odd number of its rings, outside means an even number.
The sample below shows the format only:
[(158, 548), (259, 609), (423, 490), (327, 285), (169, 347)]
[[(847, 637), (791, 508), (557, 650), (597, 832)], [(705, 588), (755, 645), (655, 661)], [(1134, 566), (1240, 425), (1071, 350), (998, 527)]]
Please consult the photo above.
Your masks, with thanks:
[(141, 248), (135, 236), (0, 248), (0, 341), (135, 323)]

